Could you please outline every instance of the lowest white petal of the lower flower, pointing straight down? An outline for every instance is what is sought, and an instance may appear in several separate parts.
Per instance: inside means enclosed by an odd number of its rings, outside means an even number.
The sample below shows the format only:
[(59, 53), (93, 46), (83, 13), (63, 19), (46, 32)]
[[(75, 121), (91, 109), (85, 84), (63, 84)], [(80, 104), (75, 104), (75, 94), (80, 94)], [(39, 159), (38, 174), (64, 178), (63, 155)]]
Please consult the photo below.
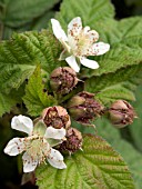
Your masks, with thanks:
[(31, 172), (36, 169), (38, 160), (33, 160), (27, 152), (22, 156), (23, 160), (23, 172)]

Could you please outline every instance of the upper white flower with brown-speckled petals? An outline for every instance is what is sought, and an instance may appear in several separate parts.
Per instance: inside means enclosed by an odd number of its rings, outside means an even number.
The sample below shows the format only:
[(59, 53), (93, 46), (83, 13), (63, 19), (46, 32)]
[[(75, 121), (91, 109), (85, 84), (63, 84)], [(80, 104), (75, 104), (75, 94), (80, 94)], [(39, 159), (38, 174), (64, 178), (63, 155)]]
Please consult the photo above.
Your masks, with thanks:
[[(60, 60), (65, 59), (68, 64), (75, 71), (80, 71), (78, 61), (84, 67), (98, 69), (94, 60), (87, 59), (88, 56), (101, 56), (110, 50), (110, 44), (98, 42), (99, 33), (90, 30), (90, 27), (82, 28), (81, 18), (77, 17), (68, 24), (68, 36), (62, 30), (60, 22), (51, 19), (52, 30), (57, 39), (63, 44), (64, 50)], [(68, 52), (68, 53), (67, 53)]]

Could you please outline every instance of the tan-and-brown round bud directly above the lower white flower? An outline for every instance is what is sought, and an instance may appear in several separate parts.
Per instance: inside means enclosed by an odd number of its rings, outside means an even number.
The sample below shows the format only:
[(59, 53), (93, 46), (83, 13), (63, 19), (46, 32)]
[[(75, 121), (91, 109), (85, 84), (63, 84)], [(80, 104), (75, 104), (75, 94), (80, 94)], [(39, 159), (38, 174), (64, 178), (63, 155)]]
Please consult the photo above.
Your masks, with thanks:
[(71, 125), (70, 116), (67, 110), (60, 106), (45, 108), (41, 117), (47, 127), (51, 126), (54, 129), (68, 129)]

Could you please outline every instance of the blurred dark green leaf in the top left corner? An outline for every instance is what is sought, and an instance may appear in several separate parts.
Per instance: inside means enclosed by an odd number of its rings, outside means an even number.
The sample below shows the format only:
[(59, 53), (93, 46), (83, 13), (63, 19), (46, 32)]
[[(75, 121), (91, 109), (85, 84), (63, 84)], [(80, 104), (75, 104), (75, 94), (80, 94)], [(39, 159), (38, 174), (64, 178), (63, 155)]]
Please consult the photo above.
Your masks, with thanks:
[(0, 37), (9, 39), (12, 32), (48, 28), (60, 0), (0, 0)]

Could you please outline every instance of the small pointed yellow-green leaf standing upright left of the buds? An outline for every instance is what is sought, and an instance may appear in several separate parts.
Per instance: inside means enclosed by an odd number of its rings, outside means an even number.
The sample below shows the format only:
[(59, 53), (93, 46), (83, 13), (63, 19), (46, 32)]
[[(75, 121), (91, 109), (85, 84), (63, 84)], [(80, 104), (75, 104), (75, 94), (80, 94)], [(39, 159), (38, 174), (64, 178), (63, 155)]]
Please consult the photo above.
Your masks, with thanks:
[(44, 84), (42, 83), (40, 66), (37, 67), (33, 74), (30, 77), (26, 87), (26, 96), (23, 102), (28, 108), (31, 116), (40, 116), (42, 110), (47, 107), (54, 106), (57, 100), (43, 91)]

